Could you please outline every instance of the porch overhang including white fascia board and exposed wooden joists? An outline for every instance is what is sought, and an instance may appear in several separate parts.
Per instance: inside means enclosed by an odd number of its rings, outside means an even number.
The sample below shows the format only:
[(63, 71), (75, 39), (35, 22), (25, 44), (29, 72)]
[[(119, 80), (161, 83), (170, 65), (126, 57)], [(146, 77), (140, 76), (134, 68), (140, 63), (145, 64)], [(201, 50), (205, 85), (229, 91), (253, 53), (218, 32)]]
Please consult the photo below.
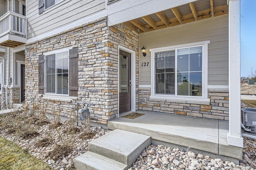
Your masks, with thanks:
[[(143, 33), (228, 14), (227, 0), (139, 2), (127, 4), (130, 8), (123, 7), (124, 1), (109, 4), (108, 10), (112, 13), (108, 14), (108, 26), (124, 23), (137, 33)], [(121, 7), (115, 9), (114, 5)]]

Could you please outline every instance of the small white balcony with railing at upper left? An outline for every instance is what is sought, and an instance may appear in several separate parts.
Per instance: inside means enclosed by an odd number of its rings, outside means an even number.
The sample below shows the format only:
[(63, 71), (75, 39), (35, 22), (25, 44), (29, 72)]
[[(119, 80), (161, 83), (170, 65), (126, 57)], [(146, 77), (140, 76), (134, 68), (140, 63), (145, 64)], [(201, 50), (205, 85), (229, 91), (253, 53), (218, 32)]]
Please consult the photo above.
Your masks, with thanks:
[(17, 47), (26, 43), (26, 16), (7, 12), (0, 18), (0, 45)]

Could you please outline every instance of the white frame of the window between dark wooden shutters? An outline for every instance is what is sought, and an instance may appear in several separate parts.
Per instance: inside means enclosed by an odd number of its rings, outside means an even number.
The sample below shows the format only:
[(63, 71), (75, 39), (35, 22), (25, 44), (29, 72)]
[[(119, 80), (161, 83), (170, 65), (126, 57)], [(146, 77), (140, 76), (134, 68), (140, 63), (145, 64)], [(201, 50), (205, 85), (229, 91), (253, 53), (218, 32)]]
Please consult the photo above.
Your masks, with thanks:
[[(53, 55), (53, 54), (55, 54), (55, 61), (57, 61), (56, 59), (57, 59), (57, 53), (63, 53), (63, 52), (68, 52), (68, 56), (69, 56), (69, 50), (70, 49), (72, 49), (72, 47), (66, 47), (66, 48), (62, 48), (62, 49), (56, 49), (56, 50), (53, 50), (53, 51), (47, 51), (47, 52), (44, 52), (43, 53), (43, 55), (44, 55), (44, 95), (46, 95), (47, 97), (50, 97), (50, 96), (52, 96), (52, 97), (56, 97), (56, 96), (58, 96), (58, 97), (69, 97), (69, 78), (70, 78), (70, 70), (69, 70), (69, 58), (68, 58), (68, 94), (58, 94), (58, 93), (56, 93), (57, 92), (57, 81), (56, 81), (56, 76), (57, 76), (57, 70), (55, 71), (55, 93), (47, 93), (47, 91), (46, 91), (46, 82), (47, 82), (47, 79), (46, 79), (46, 77), (47, 77), (47, 69), (46, 69), (46, 67), (47, 67), (47, 62), (46, 62), (46, 57), (48, 56), (48, 55)], [(56, 65), (56, 63), (55, 63), (55, 65)], [(56, 68), (55, 68), (56, 69)]]

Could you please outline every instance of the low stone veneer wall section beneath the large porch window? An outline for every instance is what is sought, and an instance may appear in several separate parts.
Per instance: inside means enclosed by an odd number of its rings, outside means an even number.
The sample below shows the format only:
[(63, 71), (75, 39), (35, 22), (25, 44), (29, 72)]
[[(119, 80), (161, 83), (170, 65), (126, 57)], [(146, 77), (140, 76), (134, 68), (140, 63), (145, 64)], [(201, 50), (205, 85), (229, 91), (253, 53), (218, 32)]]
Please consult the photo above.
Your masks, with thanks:
[[(146, 102), (141, 102), (146, 97)], [(139, 109), (228, 121), (228, 89), (208, 89), (210, 102), (150, 99), (150, 88), (139, 88)]]

